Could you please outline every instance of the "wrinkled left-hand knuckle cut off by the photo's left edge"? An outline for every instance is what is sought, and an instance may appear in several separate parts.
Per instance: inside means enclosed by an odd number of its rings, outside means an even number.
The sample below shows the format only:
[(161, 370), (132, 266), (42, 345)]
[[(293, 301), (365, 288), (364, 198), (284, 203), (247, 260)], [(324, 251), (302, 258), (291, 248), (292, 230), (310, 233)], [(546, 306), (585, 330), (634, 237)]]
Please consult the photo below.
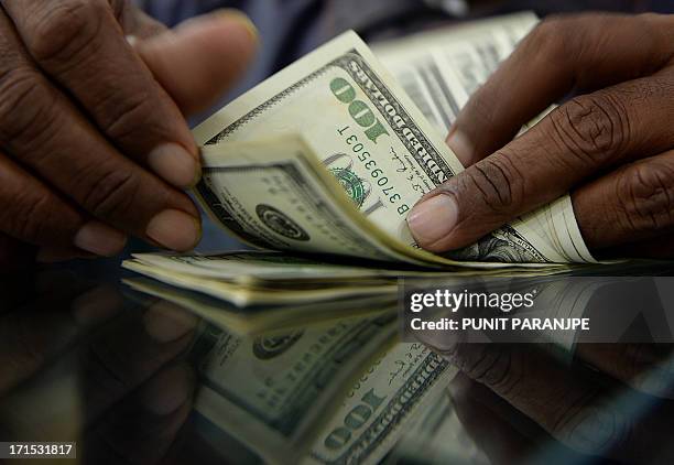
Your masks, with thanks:
[(0, 97), (2, 142), (21, 151), (44, 145), (54, 134), (56, 98), (36, 71), (17, 67), (2, 74)]

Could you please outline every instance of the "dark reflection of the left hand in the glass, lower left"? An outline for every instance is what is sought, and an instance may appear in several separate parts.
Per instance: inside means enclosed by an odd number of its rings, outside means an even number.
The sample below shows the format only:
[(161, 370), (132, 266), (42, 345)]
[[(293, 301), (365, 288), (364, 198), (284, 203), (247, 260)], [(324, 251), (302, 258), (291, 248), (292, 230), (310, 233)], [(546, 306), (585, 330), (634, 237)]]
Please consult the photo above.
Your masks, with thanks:
[(93, 463), (156, 463), (191, 411), (182, 356), (196, 318), (163, 303), (124, 310), (115, 289), (67, 273), (37, 281), (44, 298), (2, 309), (0, 434), (75, 440)]

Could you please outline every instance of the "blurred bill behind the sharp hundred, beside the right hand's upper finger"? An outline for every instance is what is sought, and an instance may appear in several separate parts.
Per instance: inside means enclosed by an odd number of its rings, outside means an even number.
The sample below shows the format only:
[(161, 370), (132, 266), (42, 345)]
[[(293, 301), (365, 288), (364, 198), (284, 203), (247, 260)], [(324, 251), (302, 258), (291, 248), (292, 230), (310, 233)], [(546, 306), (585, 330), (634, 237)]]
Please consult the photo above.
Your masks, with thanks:
[(537, 22), (529, 12), (498, 17), (373, 43), (371, 48), (428, 122), (445, 133), (470, 95)]

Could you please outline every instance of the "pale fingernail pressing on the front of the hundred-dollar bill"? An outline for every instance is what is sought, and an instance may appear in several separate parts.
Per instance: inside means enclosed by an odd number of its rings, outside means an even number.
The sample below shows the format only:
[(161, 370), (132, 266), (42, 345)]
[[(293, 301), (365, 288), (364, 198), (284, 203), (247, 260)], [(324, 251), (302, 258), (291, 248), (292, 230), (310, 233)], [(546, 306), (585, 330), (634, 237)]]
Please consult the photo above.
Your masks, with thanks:
[(407, 216), (412, 236), (424, 248), (433, 246), (452, 233), (457, 220), (458, 206), (454, 198), (446, 194), (437, 194), (416, 204)]

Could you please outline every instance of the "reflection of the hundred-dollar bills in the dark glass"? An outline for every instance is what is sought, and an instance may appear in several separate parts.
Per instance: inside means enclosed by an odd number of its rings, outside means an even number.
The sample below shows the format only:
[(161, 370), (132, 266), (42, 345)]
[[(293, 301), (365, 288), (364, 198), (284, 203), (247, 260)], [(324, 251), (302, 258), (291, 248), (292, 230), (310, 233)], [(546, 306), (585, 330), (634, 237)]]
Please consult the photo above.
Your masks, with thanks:
[(390, 347), (394, 320), (269, 337), (208, 327), (192, 350), (195, 408), (270, 463), (377, 463), (454, 375), (421, 344)]

